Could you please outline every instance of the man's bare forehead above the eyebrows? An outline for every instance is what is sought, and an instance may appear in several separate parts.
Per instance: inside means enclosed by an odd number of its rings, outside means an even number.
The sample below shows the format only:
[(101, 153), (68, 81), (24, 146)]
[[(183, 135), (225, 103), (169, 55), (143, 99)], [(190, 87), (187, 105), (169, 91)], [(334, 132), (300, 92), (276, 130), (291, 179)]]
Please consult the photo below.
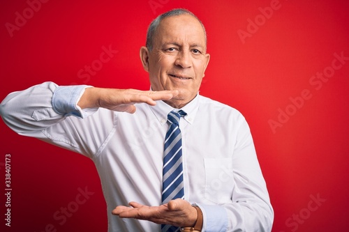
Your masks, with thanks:
[(161, 21), (156, 31), (157, 42), (189, 42), (206, 47), (205, 32), (200, 22), (192, 15), (175, 15)]

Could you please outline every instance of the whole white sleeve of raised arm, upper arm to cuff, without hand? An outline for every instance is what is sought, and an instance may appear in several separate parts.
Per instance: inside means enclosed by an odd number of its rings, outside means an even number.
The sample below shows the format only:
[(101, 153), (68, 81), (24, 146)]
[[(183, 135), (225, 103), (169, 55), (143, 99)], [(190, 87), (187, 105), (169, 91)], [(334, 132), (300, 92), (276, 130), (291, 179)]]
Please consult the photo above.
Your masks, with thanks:
[[(84, 89), (89, 87), (58, 86), (53, 82), (31, 86), (8, 94), (0, 104), (0, 115), (17, 134), (93, 157), (113, 131), (114, 114), (106, 109), (82, 110), (77, 106)], [(105, 123), (93, 123), (96, 121)]]

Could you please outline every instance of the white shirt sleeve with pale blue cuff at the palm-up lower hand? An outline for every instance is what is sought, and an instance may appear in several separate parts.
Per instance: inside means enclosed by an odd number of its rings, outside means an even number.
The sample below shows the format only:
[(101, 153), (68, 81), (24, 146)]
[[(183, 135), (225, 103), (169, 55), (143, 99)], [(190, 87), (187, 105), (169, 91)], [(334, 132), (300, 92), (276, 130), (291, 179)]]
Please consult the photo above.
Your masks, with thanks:
[(212, 183), (209, 198), (217, 203), (196, 203), (204, 216), (202, 231), (272, 231), (274, 210), (255, 153), (250, 128), (241, 114), (233, 121), (234, 126), (230, 127), (230, 130), (234, 129), (234, 136), (226, 137), (232, 139), (232, 156), (227, 160), (232, 162), (232, 167), (216, 169), (218, 178), (215, 181), (220, 185), (230, 185), (232, 181), (234, 187), (229, 195), (230, 200), (222, 202), (219, 198), (223, 194), (223, 187)]

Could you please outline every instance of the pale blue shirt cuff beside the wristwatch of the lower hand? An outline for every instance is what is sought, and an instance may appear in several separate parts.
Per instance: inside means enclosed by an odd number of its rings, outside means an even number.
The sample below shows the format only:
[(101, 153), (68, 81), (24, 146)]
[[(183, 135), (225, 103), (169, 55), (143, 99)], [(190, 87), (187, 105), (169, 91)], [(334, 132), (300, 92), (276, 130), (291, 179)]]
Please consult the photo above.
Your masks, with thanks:
[(204, 215), (203, 232), (223, 232), (228, 229), (228, 214), (222, 206), (209, 206), (194, 203)]

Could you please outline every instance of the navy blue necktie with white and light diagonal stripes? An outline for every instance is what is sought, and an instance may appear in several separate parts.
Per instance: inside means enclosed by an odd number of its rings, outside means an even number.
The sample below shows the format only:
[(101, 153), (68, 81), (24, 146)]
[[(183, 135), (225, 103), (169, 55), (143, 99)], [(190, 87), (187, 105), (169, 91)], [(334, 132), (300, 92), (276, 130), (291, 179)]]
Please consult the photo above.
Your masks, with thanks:
[[(162, 201), (168, 203), (172, 199), (184, 199), (183, 166), (181, 162), (181, 130), (179, 119), (186, 112), (179, 110), (168, 114), (170, 128), (166, 133), (163, 156), (163, 194)], [(179, 227), (161, 225), (161, 231), (179, 231)]]

